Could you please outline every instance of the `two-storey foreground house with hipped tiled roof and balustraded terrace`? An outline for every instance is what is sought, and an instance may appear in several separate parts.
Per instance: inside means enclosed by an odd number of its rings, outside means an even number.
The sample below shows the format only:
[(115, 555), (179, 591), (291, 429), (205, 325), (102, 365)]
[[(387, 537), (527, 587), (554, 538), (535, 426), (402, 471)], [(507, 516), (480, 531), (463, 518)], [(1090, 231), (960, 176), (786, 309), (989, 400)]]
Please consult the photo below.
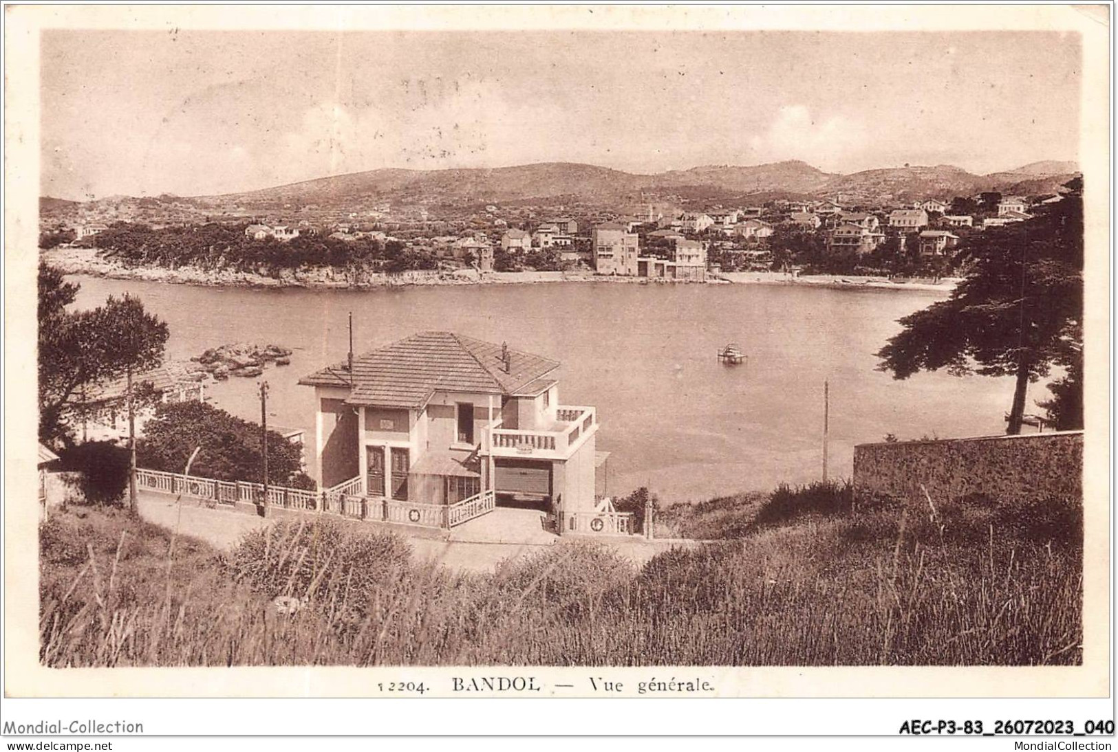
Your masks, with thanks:
[(593, 512), (597, 417), (558, 403), (558, 368), (506, 344), (419, 332), (315, 371), (300, 383), (314, 388), (319, 485), (417, 524), (475, 498), (560, 523)]

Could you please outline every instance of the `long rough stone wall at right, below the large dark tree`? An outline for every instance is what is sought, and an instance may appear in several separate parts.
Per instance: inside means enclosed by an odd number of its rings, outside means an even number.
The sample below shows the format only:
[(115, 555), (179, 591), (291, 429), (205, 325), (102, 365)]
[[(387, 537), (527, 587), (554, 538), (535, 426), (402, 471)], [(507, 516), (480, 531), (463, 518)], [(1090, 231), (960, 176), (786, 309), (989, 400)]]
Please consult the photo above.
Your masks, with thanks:
[(1055, 431), (854, 447), (859, 495), (896, 498), (1081, 498), (1083, 432)]

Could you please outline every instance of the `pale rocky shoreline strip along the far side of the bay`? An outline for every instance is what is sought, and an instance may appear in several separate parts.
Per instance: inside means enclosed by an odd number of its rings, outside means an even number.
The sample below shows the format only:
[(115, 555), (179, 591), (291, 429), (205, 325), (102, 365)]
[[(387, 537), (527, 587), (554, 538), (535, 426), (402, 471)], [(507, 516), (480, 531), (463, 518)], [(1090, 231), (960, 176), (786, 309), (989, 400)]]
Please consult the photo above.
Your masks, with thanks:
[(169, 269), (163, 267), (126, 267), (105, 259), (92, 248), (54, 248), (40, 250), (39, 258), (65, 274), (80, 274), (110, 279), (141, 279), (199, 287), (255, 287), (303, 289), (377, 289), (383, 287), (411, 287), (432, 285), (510, 285), (543, 283), (598, 283), (629, 285), (785, 285), (812, 286), (831, 289), (892, 289), (949, 294), (957, 279), (938, 282), (915, 279), (897, 283), (883, 277), (855, 275), (812, 275), (790, 277), (780, 272), (726, 272), (711, 275), (704, 283), (657, 280), (645, 277), (599, 276), (591, 272), (486, 272), (457, 269), (453, 272), (404, 272), (400, 274), (361, 273), (350, 276), (347, 272), (316, 269), (299, 274), (284, 273), (278, 277), (247, 272), (221, 269), (210, 272), (198, 267)]

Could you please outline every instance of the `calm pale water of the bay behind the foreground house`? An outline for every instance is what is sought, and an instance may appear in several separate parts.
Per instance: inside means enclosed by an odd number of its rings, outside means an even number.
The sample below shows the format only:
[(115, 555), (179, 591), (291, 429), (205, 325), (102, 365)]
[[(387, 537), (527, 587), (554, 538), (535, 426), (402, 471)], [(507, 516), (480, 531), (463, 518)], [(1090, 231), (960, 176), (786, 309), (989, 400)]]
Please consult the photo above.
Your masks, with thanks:
[[(171, 358), (229, 342), (293, 349), (291, 365), (263, 377), (268, 421), (304, 428), (311, 442), (313, 390), (296, 381), (344, 359), (349, 312), (359, 353), (449, 330), (553, 358), (562, 363), (560, 403), (598, 409), (598, 448), (612, 453), (610, 495), (647, 484), (665, 499), (702, 499), (817, 478), (825, 380), (835, 476), (850, 476), (855, 444), (887, 434), (998, 434), (1013, 390), (1008, 379), (927, 373), (894, 381), (874, 370), (897, 320), (939, 293), (607, 283), (354, 292), (74, 280), (82, 307), (110, 294), (139, 295), (169, 323)], [(748, 364), (718, 362), (731, 341)], [(212, 384), (212, 403), (259, 420), (257, 382)], [(1030, 407), (1041, 397), (1033, 387)], [(313, 447), (309, 454), (313, 460)]]

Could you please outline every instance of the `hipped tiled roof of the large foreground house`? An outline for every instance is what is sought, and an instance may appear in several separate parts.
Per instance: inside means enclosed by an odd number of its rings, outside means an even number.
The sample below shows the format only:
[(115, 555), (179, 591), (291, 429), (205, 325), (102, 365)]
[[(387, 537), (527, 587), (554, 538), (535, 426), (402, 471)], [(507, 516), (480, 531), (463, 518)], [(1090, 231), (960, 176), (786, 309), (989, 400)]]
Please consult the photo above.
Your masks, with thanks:
[[(419, 332), (353, 359), (351, 404), (419, 409), (436, 391), (512, 394), (559, 368), (547, 358), (509, 349), (504, 370), (501, 345), (452, 332)], [(312, 387), (350, 385), (345, 363), (303, 379)]]

